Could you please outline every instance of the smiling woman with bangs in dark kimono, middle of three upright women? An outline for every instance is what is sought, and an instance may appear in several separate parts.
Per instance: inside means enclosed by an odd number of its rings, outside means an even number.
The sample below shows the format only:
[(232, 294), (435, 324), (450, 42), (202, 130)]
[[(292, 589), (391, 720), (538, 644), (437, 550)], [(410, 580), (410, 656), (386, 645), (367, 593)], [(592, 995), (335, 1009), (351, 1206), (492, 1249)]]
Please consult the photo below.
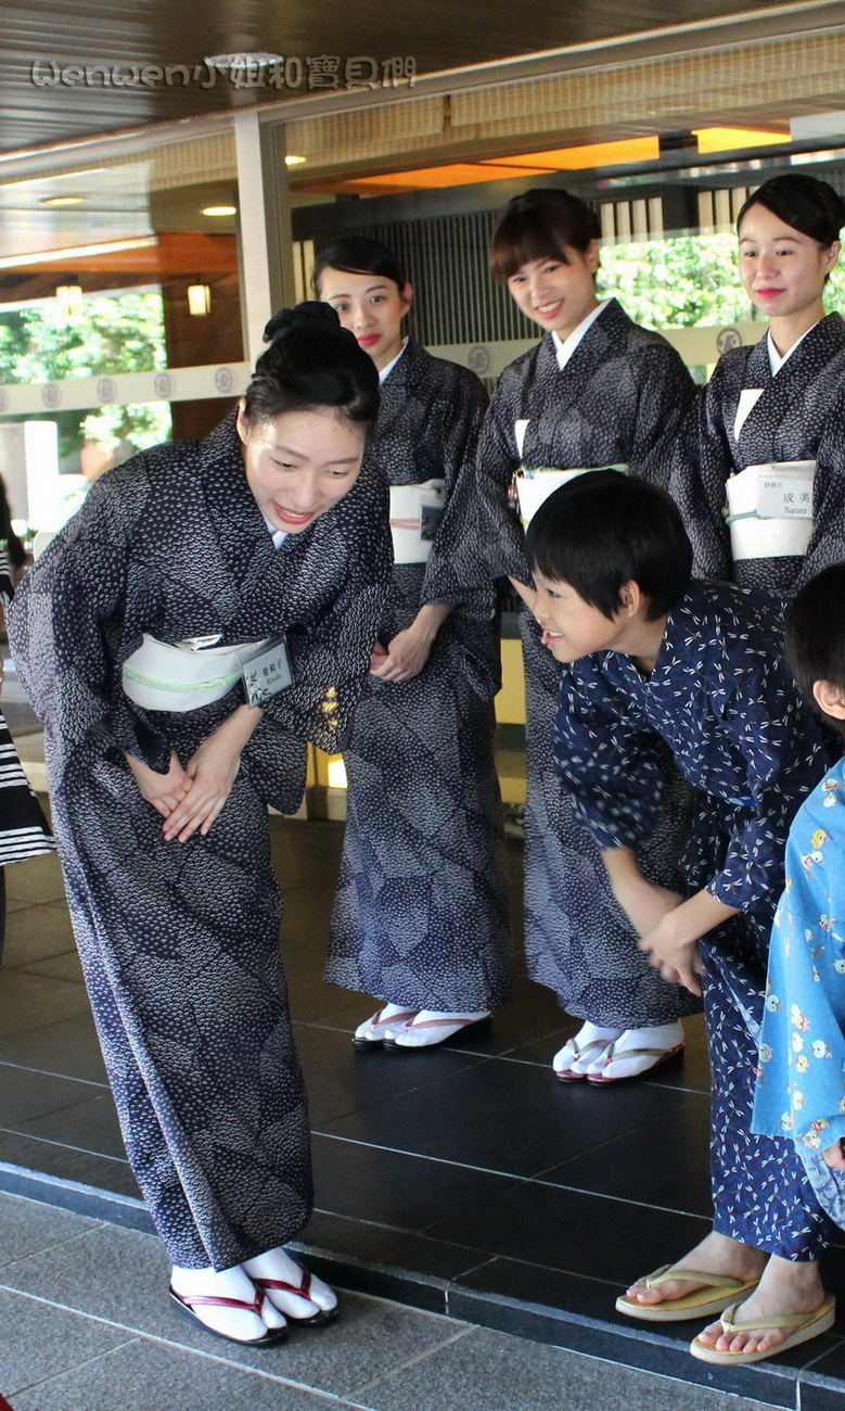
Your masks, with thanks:
[[(529, 190), (506, 207), (491, 243), (492, 275), (505, 284), (543, 341), (499, 378), (484, 420), (473, 485), (482, 521), (461, 532), (473, 507), (444, 531), (444, 562), (461, 581), (509, 576), (526, 602), (521, 632), (526, 677), (525, 944), (529, 974), (583, 1020), (554, 1055), (564, 1081), (639, 1077), (683, 1047), (680, 1017), (697, 1006), (663, 985), (636, 948), (611, 892), (598, 849), (578, 821), (553, 768), (553, 727), (561, 669), (540, 643), (530, 612), (533, 587), (525, 535), (508, 505), (523, 467), (574, 470), (626, 464), (659, 476), (659, 452), (694, 392), (679, 354), (632, 323), (616, 299), (600, 301), (598, 219), (560, 189)], [(521, 491), (543, 477), (522, 478)], [(550, 477), (547, 490), (557, 483)], [(478, 516), (478, 508), (475, 508)], [(449, 581), (449, 580), (447, 580)], [(667, 763), (667, 768), (669, 763)], [(688, 817), (680, 777), (646, 868), (676, 885)]]

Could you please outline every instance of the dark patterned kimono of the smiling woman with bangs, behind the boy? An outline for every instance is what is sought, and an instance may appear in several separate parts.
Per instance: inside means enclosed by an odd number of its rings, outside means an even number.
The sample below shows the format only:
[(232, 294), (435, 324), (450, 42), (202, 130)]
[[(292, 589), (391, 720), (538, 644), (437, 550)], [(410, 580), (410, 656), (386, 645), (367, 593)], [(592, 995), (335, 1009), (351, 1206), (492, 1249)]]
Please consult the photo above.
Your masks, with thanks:
[[(663, 447), (693, 398), (693, 381), (666, 339), (632, 323), (612, 299), (563, 371), (547, 334), (502, 374), (478, 443), (477, 476), (466, 490), (481, 507), (475, 535), (449, 515), (449, 547), (434, 590), (509, 574), (530, 583), (522, 526), (508, 505), (513, 471), (532, 467), (628, 464), (662, 483)], [(522, 456), (513, 423), (528, 418)], [(468, 519), (468, 507), (461, 507)], [(478, 511), (477, 511), (478, 516)], [(477, 519), (478, 522), (478, 519)], [(533, 979), (554, 989), (570, 1015), (619, 1029), (660, 1024), (697, 1003), (669, 986), (636, 948), (611, 892), (595, 842), (561, 789), (553, 734), (561, 667), (540, 642), (530, 614), (521, 632), (526, 687), (525, 945)], [(643, 866), (677, 882), (690, 816), (687, 786), (666, 756), (673, 785)]]

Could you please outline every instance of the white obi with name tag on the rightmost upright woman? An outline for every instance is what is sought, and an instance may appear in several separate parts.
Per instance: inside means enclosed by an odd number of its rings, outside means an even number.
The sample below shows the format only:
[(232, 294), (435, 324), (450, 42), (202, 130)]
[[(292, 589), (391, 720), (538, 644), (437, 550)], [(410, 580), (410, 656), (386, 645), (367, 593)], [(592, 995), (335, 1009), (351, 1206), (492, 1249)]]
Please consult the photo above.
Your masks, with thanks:
[(803, 557), (813, 533), (814, 460), (746, 466), (727, 483), (735, 562)]

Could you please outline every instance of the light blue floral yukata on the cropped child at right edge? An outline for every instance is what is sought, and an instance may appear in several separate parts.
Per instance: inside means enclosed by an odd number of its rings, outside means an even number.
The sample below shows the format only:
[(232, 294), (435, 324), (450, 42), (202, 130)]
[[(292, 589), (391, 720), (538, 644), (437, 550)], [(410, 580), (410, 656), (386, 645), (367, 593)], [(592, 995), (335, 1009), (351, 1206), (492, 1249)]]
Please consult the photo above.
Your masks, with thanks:
[(753, 1130), (796, 1144), (820, 1202), (845, 1223), (845, 761), (798, 810), (774, 913)]

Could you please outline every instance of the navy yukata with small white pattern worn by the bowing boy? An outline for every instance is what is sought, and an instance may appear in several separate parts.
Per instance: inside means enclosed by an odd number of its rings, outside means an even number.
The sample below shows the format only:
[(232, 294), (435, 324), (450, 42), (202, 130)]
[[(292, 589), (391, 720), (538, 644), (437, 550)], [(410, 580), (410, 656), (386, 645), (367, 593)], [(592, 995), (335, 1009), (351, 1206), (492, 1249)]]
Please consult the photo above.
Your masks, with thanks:
[(739, 914), (700, 943), (712, 1067), (714, 1228), (783, 1259), (818, 1256), (827, 1218), (791, 1141), (753, 1136), (756, 1037), (791, 817), (824, 770), (818, 729), (762, 594), (695, 583), (669, 615), (650, 677), (597, 652), (564, 677), (556, 765), (601, 848), (640, 851), (660, 807), (659, 746), (697, 789), (684, 858)]

